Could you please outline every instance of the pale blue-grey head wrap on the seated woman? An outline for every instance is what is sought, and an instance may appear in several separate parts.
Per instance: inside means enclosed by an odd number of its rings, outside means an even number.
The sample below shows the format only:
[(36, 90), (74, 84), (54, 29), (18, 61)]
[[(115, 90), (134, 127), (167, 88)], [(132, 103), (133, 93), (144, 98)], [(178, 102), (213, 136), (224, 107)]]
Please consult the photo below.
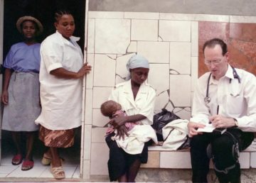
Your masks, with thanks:
[(135, 68), (147, 68), (149, 69), (149, 61), (146, 60), (142, 55), (133, 55), (127, 62), (127, 70), (135, 69)]

